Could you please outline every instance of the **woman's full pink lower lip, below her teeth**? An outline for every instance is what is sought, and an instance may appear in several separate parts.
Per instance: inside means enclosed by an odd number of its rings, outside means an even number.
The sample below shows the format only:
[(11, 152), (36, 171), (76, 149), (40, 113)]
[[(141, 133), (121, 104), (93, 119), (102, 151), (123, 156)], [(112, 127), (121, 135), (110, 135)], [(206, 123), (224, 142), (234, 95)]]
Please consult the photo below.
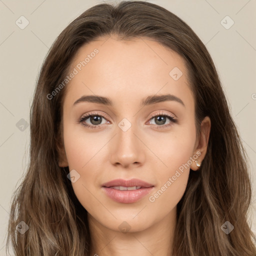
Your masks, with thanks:
[(118, 190), (111, 187), (102, 187), (105, 193), (114, 201), (122, 203), (136, 202), (146, 194), (148, 194), (153, 186), (143, 187), (134, 190)]

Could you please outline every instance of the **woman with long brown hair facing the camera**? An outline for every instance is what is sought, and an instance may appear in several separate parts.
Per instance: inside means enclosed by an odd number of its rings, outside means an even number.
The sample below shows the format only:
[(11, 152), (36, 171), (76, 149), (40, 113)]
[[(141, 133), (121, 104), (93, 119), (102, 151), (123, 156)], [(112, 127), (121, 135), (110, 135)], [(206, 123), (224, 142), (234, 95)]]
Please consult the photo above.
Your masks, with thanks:
[(246, 155), (212, 59), (149, 2), (84, 11), (43, 63), (16, 255), (256, 255)]

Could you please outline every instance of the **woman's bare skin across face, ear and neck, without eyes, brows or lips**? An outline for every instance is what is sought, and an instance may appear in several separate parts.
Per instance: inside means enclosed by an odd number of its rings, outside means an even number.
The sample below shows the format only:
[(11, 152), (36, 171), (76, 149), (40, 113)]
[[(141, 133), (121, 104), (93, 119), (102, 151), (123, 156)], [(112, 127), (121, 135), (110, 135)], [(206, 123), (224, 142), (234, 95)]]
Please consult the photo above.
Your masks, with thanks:
[[(90, 255), (171, 255), (176, 205), (185, 191), (189, 168), (179, 171), (181, 175), (155, 201), (148, 198), (196, 151), (201, 153), (198, 162), (202, 161), (210, 119), (206, 116), (201, 122), (196, 138), (187, 70), (174, 51), (146, 38), (99, 38), (78, 50), (70, 70), (94, 48), (99, 52), (66, 85), (59, 158), (59, 166), (68, 165), (80, 175), (72, 187), (88, 212)], [(183, 73), (176, 81), (169, 75), (173, 67)], [(146, 96), (165, 93), (179, 97), (185, 106), (177, 101), (140, 106)], [(93, 102), (72, 106), (76, 99), (89, 94), (109, 97), (113, 106)], [(151, 114), (161, 115), (161, 110), (174, 115), (178, 122), (171, 123), (166, 117), (165, 123), (159, 124), (150, 118)], [(78, 120), (89, 112), (107, 118), (102, 117), (99, 128), (84, 127)], [(118, 126), (123, 118), (131, 123), (126, 131)], [(93, 125), (90, 118), (84, 122)], [(190, 168), (198, 169), (194, 161)], [(154, 188), (134, 203), (115, 202), (102, 191), (101, 184), (116, 178), (139, 178)], [(118, 227), (123, 221), (130, 227), (128, 232)]]

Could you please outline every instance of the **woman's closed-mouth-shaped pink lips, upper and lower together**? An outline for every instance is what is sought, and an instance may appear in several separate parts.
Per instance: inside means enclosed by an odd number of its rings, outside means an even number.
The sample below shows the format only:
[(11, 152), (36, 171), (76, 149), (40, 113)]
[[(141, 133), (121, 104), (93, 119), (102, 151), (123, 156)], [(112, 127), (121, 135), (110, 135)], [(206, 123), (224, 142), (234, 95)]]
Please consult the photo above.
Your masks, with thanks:
[[(112, 188), (112, 186), (141, 186), (141, 188), (134, 190), (118, 190)], [(132, 178), (130, 180), (114, 179), (102, 184), (102, 189), (106, 195), (112, 200), (120, 203), (136, 202), (148, 194), (153, 189), (153, 187), (154, 185), (136, 178)]]

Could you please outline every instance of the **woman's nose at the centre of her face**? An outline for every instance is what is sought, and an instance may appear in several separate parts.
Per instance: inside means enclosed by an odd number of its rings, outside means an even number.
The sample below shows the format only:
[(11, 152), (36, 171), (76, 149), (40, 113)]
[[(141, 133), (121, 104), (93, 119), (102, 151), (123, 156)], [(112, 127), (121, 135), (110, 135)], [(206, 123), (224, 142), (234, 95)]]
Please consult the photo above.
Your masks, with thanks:
[(142, 165), (145, 159), (143, 150), (145, 146), (139, 139), (139, 135), (135, 133), (133, 125), (126, 131), (117, 126), (116, 132), (117, 134), (111, 141), (111, 163), (116, 166), (121, 165), (124, 168)]

